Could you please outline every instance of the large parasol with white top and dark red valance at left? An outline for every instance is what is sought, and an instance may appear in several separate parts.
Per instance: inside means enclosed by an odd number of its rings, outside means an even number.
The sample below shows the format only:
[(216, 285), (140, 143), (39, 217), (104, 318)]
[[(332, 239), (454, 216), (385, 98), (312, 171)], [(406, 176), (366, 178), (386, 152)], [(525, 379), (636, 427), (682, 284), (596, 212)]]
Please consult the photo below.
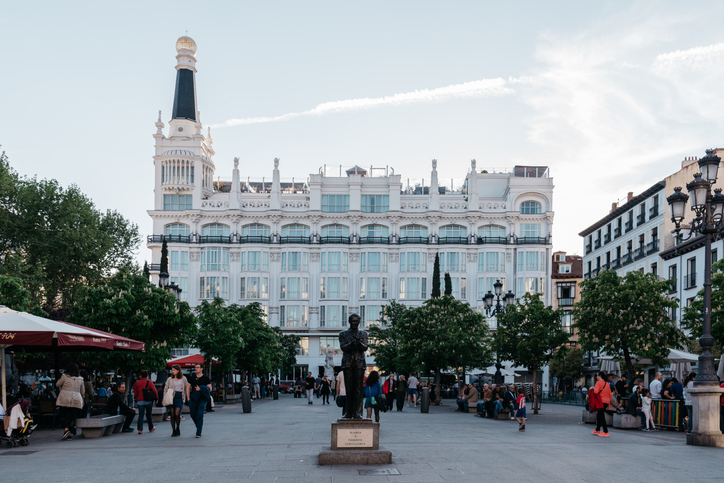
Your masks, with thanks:
[(0, 384), (2, 405), (6, 406), (5, 349), (41, 350), (51, 347), (64, 350), (135, 350), (145, 345), (126, 337), (80, 325), (44, 319), (26, 312), (0, 306)]

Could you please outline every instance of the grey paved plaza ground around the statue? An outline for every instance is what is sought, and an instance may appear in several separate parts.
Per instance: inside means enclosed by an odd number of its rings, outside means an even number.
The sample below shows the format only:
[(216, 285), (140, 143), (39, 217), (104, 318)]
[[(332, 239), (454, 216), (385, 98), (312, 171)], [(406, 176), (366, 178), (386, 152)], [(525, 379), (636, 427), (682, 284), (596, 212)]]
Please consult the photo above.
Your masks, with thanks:
[[(30, 446), (0, 448), (3, 482), (610, 482), (723, 481), (724, 449), (687, 446), (675, 432), (612, 430), (610, 438), (579, 424), (581, 408), (546, 404), (531, 415), (527, 431), (514, 421), (492, 421), (454, 412), (455, 404), (431, 406), (428, 414), (405, 408), (382, 414), (380, 444), (393, 463), (380, 467), (318, 466), (330, 444), (334, 403), (281, 395), (206, 415), (204, 434), (194, 438), (188, 415), (182, 436), (169, 423), (153, 434), (114, 434), (60, 441), (61, 431), (36, 431)], [(529, 415), (532, 411), (529, 412)], [(135, 422), (134, 422), (135, 429)], [(390, 469), (399, 475), (363, 475)]]

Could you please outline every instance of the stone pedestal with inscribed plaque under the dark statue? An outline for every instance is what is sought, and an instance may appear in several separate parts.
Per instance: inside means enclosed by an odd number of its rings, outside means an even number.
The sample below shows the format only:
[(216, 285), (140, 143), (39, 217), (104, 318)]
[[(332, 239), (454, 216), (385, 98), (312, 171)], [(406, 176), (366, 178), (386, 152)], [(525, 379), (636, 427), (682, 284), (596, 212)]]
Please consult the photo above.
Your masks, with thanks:
[(392, 453), (380, 447), (380, 424), (370, 419), (332, 423), (332, 444), (319, 453), (320, 465), (389, 465)]

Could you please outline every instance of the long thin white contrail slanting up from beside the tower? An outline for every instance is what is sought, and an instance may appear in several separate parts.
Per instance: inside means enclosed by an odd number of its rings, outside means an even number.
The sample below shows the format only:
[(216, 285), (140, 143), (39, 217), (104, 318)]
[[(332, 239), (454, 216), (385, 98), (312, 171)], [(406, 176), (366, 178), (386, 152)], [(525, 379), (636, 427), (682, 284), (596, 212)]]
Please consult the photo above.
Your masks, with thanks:
[(477, 81), (453, 84), (437, 89), (422, 89), (412, 92), (403, 92), (385, 97), (363, 97), (359, 99), (347, 99), (343, 101), (332, 101), (318, 104), (313, 109), (302, 112), (290, 112), (281, 116), (273, 117), (245, 117), (240, 119), (229, 119), (221, 124), (214, 124), (212, 127), (220, 128), (227, 126), (238, 126), (240, 124), (260, 124), (264, 122), (287, 121), (301, 116), (320, 116), (328, 113), (357, 111), (360, 109), (371, 109), (379, 106), (400, 106), (415, 104), (418, 102), (442, 102), (448, 99), (460, 99), (470, 97), (496, 97), (506, 94), (513, 94), (515, 91), (506, 87), (509, 83), (519, 82), (511, 79), (506, 81), (502, 78), (481, 79)]

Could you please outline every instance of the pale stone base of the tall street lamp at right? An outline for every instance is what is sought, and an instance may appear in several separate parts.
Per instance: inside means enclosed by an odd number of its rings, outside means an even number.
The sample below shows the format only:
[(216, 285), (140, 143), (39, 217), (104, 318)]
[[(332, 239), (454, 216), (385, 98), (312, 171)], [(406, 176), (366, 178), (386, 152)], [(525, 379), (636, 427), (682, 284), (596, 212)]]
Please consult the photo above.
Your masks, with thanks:
[(724, 434), (719, 429), (719, 398), (724, 389), (717, 386), (694, 386), (686, 392), (691, 395), (694, 403), (694, 420), (691, 432), (686, 435), (686, 444), (723, 448)]

